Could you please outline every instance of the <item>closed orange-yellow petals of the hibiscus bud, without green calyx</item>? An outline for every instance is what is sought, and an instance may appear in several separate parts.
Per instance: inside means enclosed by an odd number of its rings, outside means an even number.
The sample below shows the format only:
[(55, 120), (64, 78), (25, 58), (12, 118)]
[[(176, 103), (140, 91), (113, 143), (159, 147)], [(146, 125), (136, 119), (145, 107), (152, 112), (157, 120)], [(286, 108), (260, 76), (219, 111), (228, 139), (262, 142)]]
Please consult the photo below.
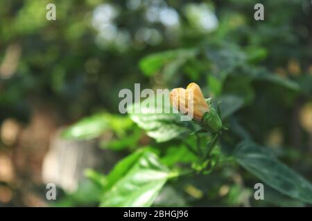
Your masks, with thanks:
[(202, 91), (195, 83), (189, 84), (187, 89), (173, 89), (170, 93), (170, 102), (182, 114), (191, 114), (196, 122), (200, 122), (204, 114), (209, 111)]

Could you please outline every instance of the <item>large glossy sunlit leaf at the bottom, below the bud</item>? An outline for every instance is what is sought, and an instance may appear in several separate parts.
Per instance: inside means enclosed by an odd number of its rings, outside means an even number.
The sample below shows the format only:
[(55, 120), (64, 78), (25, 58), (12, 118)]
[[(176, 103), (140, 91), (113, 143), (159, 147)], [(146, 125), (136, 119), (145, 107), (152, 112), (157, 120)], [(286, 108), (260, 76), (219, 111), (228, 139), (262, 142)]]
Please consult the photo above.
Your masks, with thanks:
[(168, 175), (168, 169), (155, 153), (134, 153), (119, 162), (107, 177), (109, 189), (103, 195), (101, 206), (150, 206)]

